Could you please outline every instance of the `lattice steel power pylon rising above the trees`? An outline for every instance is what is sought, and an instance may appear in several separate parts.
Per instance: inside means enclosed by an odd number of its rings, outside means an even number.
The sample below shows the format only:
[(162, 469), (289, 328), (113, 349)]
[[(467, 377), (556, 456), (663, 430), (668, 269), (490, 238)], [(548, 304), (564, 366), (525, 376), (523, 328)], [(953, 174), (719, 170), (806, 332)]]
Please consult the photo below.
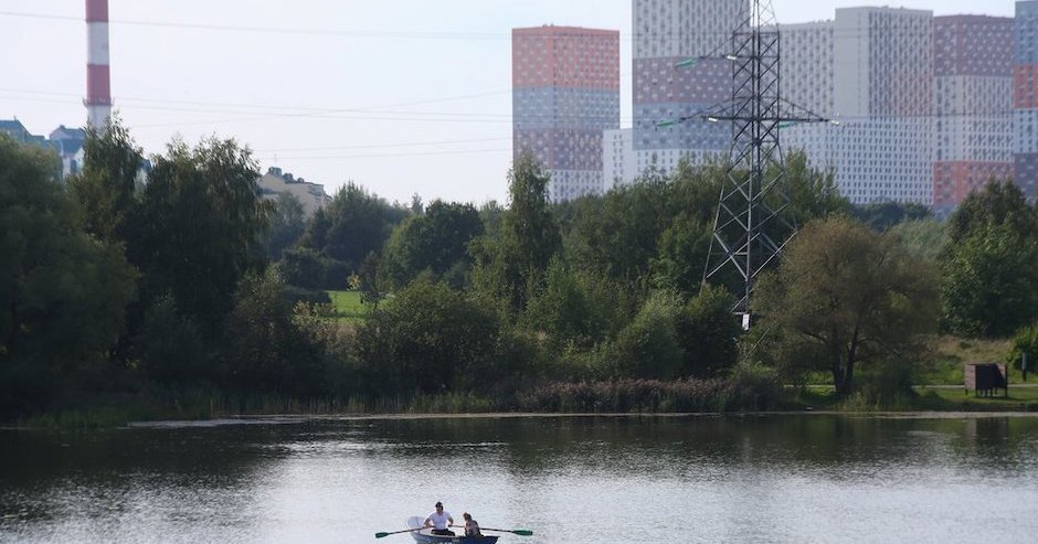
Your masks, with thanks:
[[(780, 36), (771, 0), (753, 0), (749, 15), (731, 35), (732, 98), (693, 115), (657, 124), (688, 120), (731, 121), (729, 163), (721, 188), (703, 282), (729, 266), (742, 279), (733, 313), (750, 324), (750, 294), (756, 276), (782, 252), (795, 233), (784, 215), (790, 196), (778, 130), (798, 122), (832, 121), (778, 96)], [(721, 47), (718, 47), (719, 50)], [(677, 67), (695, 65), (689, 58)]]

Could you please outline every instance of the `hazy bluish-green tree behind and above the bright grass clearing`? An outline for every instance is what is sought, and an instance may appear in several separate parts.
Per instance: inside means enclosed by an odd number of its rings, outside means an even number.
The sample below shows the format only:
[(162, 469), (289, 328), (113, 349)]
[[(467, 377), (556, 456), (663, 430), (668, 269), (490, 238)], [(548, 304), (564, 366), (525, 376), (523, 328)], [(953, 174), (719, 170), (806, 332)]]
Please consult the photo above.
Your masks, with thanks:
[(406, 209), (349, 182), (315, 214), (301, 244), (357, 270), (369, 253), (381, 252), (393, 226), (406, 216)]

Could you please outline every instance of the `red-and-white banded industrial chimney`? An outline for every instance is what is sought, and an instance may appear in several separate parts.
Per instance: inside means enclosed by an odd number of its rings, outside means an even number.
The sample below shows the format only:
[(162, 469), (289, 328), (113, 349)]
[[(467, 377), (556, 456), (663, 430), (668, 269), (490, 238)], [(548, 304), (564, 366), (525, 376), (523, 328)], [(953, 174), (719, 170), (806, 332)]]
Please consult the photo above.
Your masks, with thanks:
[(86, 0), (86, 122), (104, 130), (112, 115), (108, 0)]

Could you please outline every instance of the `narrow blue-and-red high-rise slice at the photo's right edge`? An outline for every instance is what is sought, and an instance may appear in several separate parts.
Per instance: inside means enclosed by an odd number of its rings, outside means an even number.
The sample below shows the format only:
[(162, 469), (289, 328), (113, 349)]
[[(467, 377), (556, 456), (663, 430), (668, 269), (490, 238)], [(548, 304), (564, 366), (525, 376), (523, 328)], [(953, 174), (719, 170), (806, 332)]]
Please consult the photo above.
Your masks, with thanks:
[(1034, 199), (1038, 182), (1038, 1), (1016, 2), (1013, 34), (1013, 179)]

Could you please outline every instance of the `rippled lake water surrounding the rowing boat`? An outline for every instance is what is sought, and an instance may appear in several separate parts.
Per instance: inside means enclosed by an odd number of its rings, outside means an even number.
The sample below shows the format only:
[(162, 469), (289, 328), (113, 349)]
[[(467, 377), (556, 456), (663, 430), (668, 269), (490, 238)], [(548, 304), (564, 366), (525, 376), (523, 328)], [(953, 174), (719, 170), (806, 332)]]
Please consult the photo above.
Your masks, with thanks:
[(256, 418), (0, 431), (2, 542), (1035, 542), (1027, 415)]

